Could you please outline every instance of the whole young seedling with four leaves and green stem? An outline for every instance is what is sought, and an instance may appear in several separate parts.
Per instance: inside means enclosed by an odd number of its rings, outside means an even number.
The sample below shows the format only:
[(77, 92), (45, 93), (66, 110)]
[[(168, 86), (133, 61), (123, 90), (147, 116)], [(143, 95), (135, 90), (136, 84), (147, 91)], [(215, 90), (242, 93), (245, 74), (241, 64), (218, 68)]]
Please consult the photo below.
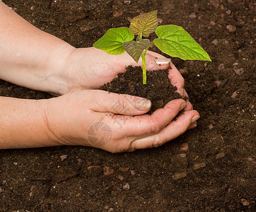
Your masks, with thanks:
[[(157, 11), (142, 13), (130, 22), (130, 28), (111, 28), (94, 47), (108, 54), (123, 54), (127, 52), (137, 63), (140, 57), (143, 60), (143, 84), (147, 83), (145, 55), (148, 48), (155, 46), (171, 57), (184, 60), (211, 61), (204, 49), (184, 30), (177, 25), (158, 25)], [(150, 33), (158, 36), (150, 42)], [(137, 35), (136, 39), (135, 35)]]

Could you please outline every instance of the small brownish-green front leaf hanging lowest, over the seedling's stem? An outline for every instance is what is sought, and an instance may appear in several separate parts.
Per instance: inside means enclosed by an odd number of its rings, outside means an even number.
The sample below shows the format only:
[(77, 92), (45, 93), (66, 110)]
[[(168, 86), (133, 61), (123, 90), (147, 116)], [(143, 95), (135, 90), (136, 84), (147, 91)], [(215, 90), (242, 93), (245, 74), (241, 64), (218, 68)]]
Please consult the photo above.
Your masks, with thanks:
[(128, 41), (123, 43), (123, 48), (126, 49), (126, 52), (133, 57), (136, 63), (140, 59), (141, 54), (143, 54), (143, 50), (150, 45), (150, 40), (142, 39), (139, 41)]

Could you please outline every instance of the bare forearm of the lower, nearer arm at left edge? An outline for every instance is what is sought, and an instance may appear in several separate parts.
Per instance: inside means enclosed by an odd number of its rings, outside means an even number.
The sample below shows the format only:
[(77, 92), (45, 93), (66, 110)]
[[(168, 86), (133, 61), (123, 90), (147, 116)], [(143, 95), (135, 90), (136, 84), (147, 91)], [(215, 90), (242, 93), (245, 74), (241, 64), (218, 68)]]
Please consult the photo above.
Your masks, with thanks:
[(45, 101), (0, 97), (0, 149), (60, 145), (48, 127)]

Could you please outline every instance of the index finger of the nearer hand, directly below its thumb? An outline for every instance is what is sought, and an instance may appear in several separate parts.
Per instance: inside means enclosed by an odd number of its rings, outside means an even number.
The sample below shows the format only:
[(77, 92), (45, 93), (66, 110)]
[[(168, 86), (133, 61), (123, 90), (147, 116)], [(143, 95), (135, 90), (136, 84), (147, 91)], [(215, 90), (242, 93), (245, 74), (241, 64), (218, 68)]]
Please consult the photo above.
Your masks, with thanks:
[(145, 137), (151, 134), (157, 134), (172, 122), (172, 119), (174, 119), (179, 111), (183, 110), (186, 105), (187, 103), (182, 99), (172, 100), (168, 102), (164, 108), (153, 112), (152, 115), (143, 114), (135, 117), (118, 115), (113, 117), (111, 121), (116, 124), (116, 127), (123, 127), (122, 136), (136, 136), (136, 139), (138, 139), (138, 136)]

